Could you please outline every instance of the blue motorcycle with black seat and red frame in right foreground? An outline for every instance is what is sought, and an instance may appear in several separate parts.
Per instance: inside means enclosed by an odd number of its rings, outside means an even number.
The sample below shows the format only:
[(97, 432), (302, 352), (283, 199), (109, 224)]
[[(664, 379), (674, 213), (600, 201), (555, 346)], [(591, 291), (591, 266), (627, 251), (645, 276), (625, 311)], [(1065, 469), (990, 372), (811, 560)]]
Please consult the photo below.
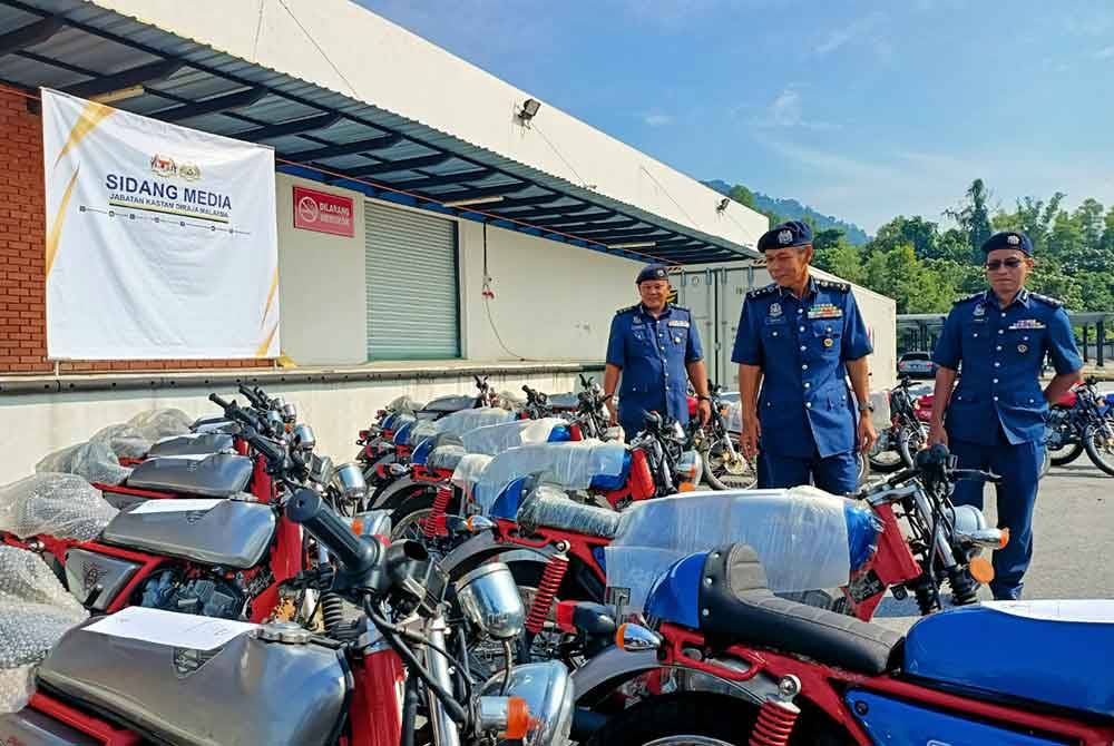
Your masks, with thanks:
[(676, 562), (645, 606), (656, 635), (574, 673), (578, 707), (598, 717), (575, 735), (589, 746), (1114, 742), (1114, 679), (1091, 675), (1096, 651), (1114, 649), (1114, 602), (984, 603), (902, 637), (776, 598), (765, 580), (745, 544)]

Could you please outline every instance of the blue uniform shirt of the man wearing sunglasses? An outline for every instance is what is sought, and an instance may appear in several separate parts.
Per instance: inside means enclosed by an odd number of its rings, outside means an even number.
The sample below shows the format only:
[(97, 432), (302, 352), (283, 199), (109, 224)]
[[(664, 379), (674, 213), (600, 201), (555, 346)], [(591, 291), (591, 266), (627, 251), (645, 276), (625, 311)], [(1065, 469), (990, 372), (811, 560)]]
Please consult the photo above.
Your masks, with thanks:
[(1005, 310), (991, 291), (956, 301), (932, 360), (962, 375), (947, 411), (951, 438), (995, 445), (998, 430), (1012, 444), (1042, 440), (1048, 404), (1040, 362), (1056, 373), (1083, 367), (1063, 303), (1022, 289)]

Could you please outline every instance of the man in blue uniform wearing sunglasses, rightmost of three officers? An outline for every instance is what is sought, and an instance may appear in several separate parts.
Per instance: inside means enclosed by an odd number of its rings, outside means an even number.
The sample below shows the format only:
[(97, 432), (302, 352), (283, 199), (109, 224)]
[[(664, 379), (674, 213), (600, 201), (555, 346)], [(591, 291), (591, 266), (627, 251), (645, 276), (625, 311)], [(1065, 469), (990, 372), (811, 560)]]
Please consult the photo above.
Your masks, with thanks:
[[(1033, 244), (1016, 230), (984, 245), (989, 289), (956, 301), (934, 360), (936, 393), (930, 443), (945, 443), (964, 469), (989, 470), (996, 485), (998, 526), (1009, 542), (994, 553), (997, 599), (1018, 599), (1033, 557), (1033, 505), (1044, 461), (1048, 403), (1079, 381), (1083, 361), (1064, 304), (1025, 289)], [(1040, 390), (1040, 363), (1056, 375)], [(952, 392), (962, 364), (962, 377)], [(952, 501), (983, 507), (983, 483), (961, 481)]]

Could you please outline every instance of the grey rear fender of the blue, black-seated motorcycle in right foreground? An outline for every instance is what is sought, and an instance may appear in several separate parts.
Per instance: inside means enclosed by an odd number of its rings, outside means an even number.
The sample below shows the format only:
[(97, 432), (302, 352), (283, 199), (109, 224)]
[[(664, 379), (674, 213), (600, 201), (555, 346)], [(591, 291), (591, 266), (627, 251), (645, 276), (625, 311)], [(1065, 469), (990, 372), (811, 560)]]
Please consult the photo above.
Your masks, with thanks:
[[(607, 648), (573, 671), (576, 704), (590, 708), (627, 681), (655, 669), (667, 668), (671, 667), (658, 662), (654, 650), (626, 652), (616, 647)], [(751, 705), (761, 705), (768, 697), (778, 695), (778, 680), (768, 674), (760, 673), (744, 681), (732, 681), (703, 671), (672, 668), (673, 673), (680, 674), (675, 679), (677, 688), (683, 691), (727, 695)]]

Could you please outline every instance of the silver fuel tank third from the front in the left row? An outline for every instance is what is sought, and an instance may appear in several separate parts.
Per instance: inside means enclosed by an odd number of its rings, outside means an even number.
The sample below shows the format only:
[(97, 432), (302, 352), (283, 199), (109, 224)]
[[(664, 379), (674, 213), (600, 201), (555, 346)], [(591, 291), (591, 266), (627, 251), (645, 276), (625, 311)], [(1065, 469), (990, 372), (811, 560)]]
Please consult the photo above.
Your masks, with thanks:
[(228, 498), (244, 491), (252, 478), (252, 469), (250, 458), (233, 453), (148, 459), (131, 471), (127, 485), (141, 490)]

